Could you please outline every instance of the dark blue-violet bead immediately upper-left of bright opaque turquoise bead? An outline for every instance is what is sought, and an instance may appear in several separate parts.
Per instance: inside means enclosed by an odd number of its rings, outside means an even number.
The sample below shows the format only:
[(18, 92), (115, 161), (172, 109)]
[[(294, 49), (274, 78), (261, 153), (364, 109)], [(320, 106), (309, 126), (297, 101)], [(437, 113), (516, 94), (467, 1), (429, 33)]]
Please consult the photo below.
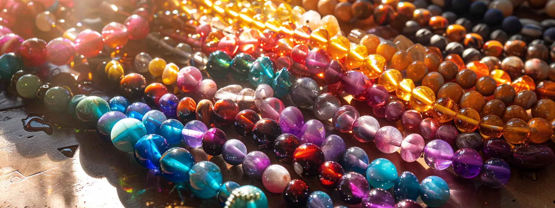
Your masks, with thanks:
[(353, 146), (345, 151), (340, 164), (345, 173), (356, 172), (364, 174), (368, 168), (368, 163), (369, 159), (366, 152), (359, 147)]

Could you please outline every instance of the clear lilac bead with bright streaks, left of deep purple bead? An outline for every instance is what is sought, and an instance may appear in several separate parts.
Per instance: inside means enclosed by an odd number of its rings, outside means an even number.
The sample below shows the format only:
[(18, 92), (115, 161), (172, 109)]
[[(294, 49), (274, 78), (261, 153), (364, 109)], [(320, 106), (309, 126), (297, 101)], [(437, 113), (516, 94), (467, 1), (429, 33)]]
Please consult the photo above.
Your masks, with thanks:
[(453, 148), (441, 139), (430, 141), (424, 148), (424, 161), (433, 169), (443, 170), (451, 165)]

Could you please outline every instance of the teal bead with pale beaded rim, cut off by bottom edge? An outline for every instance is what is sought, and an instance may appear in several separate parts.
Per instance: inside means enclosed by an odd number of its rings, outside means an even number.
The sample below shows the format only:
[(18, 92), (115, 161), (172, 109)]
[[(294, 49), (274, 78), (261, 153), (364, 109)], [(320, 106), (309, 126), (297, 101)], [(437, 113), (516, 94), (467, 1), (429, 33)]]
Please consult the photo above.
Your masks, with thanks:
[(246, 185), (231, 191), (226, 205), (229, 208), (268, 207), (268, 198), (258, 187)]

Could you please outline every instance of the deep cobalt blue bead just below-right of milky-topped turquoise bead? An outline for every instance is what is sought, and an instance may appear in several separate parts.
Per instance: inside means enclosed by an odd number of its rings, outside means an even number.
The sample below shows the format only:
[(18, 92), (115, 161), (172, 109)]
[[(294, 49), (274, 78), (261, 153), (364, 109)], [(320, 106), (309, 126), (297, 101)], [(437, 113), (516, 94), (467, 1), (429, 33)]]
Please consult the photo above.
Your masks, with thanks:
[(160, 166), (162, 154), (168, 149), (170, 149), (168, 141), (162, 136), (149, 134), (143, 136), (135, 144), (135, 160), (145, 168), (156, 169)]

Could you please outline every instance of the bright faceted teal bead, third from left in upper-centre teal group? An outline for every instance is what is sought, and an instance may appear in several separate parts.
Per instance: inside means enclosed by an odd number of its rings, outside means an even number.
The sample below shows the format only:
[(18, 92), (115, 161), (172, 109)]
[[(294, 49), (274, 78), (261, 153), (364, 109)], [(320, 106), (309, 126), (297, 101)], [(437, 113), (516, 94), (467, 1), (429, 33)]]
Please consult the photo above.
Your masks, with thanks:
[(249, 72), (249, 82), (258, 87), (261, 84), (270, 85), (274, 78), (274, 64), (270, 57), (260, 57), (256, 59)]

